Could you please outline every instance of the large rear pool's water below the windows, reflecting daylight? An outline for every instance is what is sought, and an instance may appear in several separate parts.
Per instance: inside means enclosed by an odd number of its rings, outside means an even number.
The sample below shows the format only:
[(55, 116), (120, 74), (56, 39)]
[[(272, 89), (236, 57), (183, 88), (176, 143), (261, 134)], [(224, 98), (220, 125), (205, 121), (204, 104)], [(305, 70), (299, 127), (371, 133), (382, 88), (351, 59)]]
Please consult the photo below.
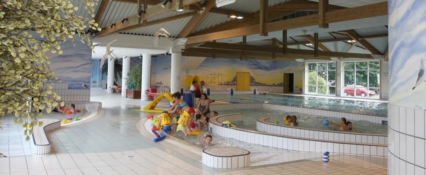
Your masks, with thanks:
[(359, 101), (348, 99), (333, 99), (311, 96), (294, 95), (212, 95), (211, 99), (232, 102), (264, 102), (284, 104), (297, 107), (333, 110), (341, 112), (359, 113), (367, 115), (387, 116), (387, 102)]

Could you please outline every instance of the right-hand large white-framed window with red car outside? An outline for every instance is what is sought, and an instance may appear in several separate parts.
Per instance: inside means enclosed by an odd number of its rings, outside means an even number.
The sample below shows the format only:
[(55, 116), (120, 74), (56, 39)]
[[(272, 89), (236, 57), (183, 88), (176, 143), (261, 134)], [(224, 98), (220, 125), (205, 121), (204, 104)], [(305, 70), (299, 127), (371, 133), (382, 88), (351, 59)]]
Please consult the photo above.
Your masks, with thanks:
[(380, 62), (343, 62), (345, 96), (380, 97)]

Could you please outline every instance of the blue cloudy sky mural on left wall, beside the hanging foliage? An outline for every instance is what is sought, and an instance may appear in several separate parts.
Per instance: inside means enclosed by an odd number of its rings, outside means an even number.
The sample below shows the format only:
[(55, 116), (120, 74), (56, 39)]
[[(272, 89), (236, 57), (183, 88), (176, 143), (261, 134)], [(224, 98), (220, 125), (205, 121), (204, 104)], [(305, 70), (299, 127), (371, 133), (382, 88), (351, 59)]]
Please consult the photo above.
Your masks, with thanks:
[(51, 61), (50, 68), (55, 71), (55, 75), (62, 80), (61, 83), (68, 83), (68, 89), (90, 88), (92, 64), (90, 48), (80, 41), (76, 41), (75, 46), (70, 41), (64, 42), (61, 48), (62, 54), (46, 53)]

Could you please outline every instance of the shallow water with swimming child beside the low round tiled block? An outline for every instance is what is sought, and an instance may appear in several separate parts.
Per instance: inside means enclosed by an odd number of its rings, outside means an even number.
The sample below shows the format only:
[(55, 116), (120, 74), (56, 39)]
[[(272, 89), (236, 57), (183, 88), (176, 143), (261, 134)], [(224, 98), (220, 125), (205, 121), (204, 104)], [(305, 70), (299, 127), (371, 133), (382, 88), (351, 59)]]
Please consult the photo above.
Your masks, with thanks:
[[(204, 131), (205, 130), (203, 130), (203, 132)], [(211, 141), (212, 144), (209, 145), (203, 145), (200, 143), (201, 140), (198, 138), (200, 138), (201, 135), (188, 135), (186, 137), (182, 137), (180, 132), (175, 132), (172, 135), (202, 148), (239, 147), (246, 149), (250, 151), (250, 161), (252, 166), (281, 163), (300, 159), (321, 160), (322, 158), (321, 153), (289, 151), (287, 149), (243, 142), (234, 138), (227, 138), (210, 132), (208, 132), (208, 134), (212, 135), (213, 137)]]

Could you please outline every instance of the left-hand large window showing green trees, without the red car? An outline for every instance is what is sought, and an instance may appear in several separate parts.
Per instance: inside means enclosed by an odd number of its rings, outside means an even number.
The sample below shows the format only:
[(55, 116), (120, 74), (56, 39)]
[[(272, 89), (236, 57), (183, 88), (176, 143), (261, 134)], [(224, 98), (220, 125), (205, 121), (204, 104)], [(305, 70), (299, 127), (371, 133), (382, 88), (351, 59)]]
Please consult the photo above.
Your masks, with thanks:
[(336, 95), (336, 62), (308, 63), (308, 93)]

